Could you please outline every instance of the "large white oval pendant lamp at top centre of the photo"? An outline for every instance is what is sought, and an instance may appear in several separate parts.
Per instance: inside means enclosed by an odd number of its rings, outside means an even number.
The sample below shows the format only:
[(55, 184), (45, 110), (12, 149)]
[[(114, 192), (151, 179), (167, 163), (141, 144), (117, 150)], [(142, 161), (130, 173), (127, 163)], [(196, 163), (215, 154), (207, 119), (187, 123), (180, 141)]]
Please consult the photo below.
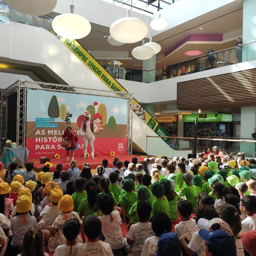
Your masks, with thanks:
[(145, 38), (148, 34), (148, 27), (142, 20), (131, 17), (131, 10), (127, 9), (127, 17), (116, 20), (110, 26), (109, 31), (114, 40), (131, 44)]

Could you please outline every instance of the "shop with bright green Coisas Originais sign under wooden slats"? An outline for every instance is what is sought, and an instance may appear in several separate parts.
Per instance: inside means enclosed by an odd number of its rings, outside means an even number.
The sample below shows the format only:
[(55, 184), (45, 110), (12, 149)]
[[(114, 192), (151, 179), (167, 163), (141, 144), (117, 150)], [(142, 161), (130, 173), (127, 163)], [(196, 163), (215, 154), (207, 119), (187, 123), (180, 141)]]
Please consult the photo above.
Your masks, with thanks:
[(233, 137), (232, 114), (207, 114), (206, 118), (200, 118), (198, 114), (184, 115), (184, 137), (195, 136), (195, 118), (198, 117), (197, 136), (219, 137), (222, 133)]

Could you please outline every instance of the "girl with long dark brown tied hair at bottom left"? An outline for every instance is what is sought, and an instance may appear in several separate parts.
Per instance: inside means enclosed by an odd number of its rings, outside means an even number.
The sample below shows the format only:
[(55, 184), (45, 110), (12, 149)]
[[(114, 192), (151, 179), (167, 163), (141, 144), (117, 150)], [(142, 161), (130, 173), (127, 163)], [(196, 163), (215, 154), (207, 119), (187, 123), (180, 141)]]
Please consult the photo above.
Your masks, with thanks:
[(17, 256), (49, 256), (43, 252), (44, 236), (40, 227), (30, 227), (23, 238), (23, 249)]

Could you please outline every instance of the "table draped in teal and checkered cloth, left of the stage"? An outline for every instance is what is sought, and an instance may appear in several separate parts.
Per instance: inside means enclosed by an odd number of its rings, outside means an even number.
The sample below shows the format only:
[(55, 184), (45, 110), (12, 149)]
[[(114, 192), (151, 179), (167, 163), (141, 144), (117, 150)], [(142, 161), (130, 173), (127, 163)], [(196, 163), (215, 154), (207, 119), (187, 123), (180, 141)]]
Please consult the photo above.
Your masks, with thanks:
[(3, 162), (6, 168), (8, 168), (9, 163), (12, 163), (12, 157), (18, 157), (18, 159), (24, 165), (27, 162), (28, 156), (29, 156), (29, 150), (25, 147), (23, 148), (3, 147), (1, 162)]

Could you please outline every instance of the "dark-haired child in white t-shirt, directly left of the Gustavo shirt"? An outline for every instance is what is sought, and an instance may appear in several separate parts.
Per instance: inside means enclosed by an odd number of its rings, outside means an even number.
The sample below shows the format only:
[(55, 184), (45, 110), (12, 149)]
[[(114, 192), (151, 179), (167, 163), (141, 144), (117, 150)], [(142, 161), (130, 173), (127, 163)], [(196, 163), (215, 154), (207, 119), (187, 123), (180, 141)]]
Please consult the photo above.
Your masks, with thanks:
[(59, 245), (53, 256), (76, 256), (77, 250), (82, 246), (76, 242), (76, 238), (80, 232), (80, 223), (78, 219), (68, 219), (63, 226), (63, 234), (66, 238), (66, 244)]

